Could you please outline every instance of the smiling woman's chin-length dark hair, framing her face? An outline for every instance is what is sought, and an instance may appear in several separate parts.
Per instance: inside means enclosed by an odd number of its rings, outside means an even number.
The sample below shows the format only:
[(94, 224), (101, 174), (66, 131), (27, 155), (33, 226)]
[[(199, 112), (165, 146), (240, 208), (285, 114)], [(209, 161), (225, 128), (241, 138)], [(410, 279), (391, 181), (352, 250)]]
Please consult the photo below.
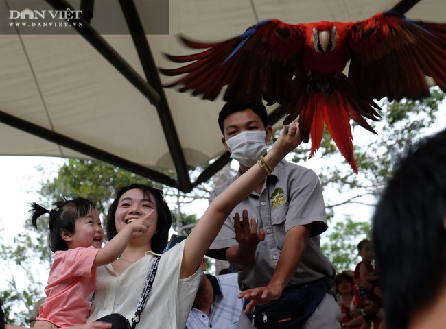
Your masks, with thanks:
[(167, 246), (167, 239), (169, 239), (169, 230), (170, 226), (172, 226), (172, 215), (170, 214), (169, 206), (167, 206), (167, 203), (164, 201), (163, 191), (152, 186), (132, 184), (119, 189), (119, 191), (116, 193), (115, 200), (111, 204), (110, 208), (108, 208), (106, 223), (107, 238), (108, 240), (111, 240), (117, 234), (115, 215), (119, 204), (119, 199), (121, 199), (124, 193), (134, 189), (143, 191), (145, 197), (150, 198), (150, 195), (152, 195), (152, 197), (155, 199), (158, 210), (158, 220), (156, 221), (156, 233), (154, 236), (152, 236), (151, 246), (153, 252), (161, 254)]

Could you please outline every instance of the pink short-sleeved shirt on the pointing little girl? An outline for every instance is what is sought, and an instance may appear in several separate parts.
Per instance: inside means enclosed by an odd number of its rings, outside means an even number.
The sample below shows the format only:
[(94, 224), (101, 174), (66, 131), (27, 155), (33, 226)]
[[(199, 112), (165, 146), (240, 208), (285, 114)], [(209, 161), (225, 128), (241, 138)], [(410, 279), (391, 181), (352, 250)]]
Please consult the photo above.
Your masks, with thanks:
[(37, 320), (50, 321), (58, 328), (86, 323), (90, 315), (86, 298), (96, 284), (93, 262), (97, 252), (95, 247), (56, 252), (45, 287), (47, 299)]

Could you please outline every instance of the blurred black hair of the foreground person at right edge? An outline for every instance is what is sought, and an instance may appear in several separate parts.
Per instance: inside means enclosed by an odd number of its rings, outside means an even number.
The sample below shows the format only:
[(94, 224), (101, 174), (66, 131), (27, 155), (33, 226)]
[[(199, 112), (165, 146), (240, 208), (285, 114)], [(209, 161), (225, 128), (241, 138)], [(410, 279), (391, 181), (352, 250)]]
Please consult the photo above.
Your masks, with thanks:
[(408, 328), (444, 291), (446, 130), (401, 160), (373, 215), (373, 245), (389, 328)]

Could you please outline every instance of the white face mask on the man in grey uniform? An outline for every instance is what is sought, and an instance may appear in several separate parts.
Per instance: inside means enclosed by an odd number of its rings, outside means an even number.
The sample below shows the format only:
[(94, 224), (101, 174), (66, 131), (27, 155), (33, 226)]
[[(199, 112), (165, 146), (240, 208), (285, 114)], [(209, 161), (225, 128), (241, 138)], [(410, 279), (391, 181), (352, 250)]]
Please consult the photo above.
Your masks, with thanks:
[(265, 154), (267, 149), (265, 138), (264, 130), (247, 130), (226, 139), (226, 145), (231, 151), (231, 158), (245, 167), (253, 167), (257, 160), (260, 160), (260, 156)]

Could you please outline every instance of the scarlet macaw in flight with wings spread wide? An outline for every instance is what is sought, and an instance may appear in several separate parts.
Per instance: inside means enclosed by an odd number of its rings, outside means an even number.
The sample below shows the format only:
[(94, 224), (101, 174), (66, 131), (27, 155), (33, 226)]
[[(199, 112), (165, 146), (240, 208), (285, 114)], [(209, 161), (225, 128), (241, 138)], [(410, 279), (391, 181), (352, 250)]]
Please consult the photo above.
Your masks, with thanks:
[[(342, 155), (357, 173), (349, 119), (375, 132), (364, 117), (379, 121), (373, 99), (390, 101), (430, 95), (425, 75), (446, 91), (446, 24), (410, 21), (386, 12), (356, 23), (290, 25), (261, 21), (235, 38), (203, 43), (182, 38), (188, 56), (169, 56), (187, 73), (167, 87), (182, 85), (203, 99), (214, 100), (228, 86), (225, 101), (281, 104), (284, 124), (299, 117), (305, 143), (312, 136), (311, 156), (322, 139), (324, 122)], [(349, 77), (344, 75), (350, 60)]]

